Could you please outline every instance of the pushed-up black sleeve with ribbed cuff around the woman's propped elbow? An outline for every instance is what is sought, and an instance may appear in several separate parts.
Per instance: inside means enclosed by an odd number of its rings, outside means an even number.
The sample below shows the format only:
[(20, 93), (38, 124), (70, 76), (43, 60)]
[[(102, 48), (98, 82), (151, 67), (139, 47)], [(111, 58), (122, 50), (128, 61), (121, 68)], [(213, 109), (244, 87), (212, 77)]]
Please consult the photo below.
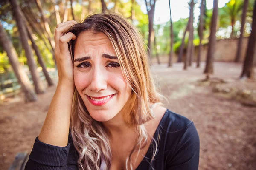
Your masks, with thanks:
[(37, 137), (25, 170), (78, 170), (73, 149), (70, 137), (66, 147), (46, 144)]

